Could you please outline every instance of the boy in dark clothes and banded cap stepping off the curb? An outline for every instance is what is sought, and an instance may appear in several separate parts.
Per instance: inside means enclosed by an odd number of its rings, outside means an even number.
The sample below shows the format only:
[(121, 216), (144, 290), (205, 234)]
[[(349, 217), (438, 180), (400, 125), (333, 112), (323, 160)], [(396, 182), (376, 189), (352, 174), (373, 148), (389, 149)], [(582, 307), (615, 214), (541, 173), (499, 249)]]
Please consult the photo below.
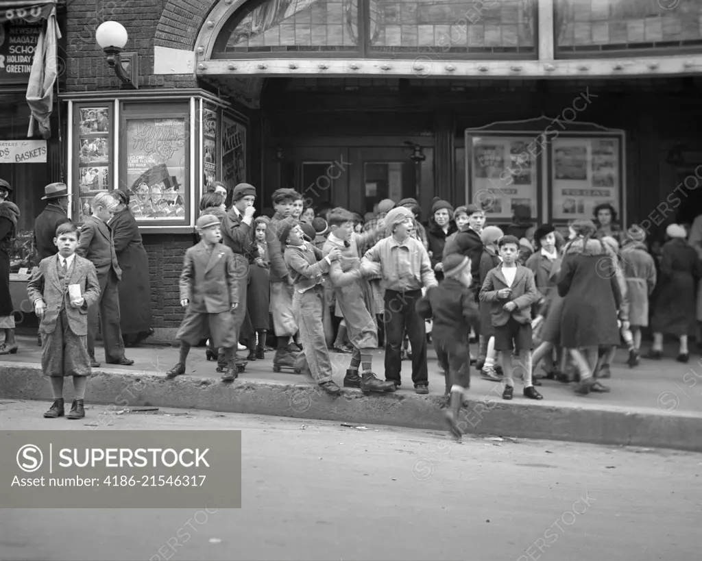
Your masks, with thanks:
[(470, 329), (471, 322), (479, 316), (479, 310), (470, 290), (470, 259), (452, 253), (442, 263), (443, 282), (427, 290), (426, 295), (417, 302), (417, 312), (425, 319), (432, 318), (434, 322), (434, 347), (439, 360), (444, 363), (451, 386), (446, 424), (449, 425), (453, 438), (461, 440), (463, 431), (458, 426), (458, 417), (463, 396), (470, 387), (470, 351), (465, 334)]

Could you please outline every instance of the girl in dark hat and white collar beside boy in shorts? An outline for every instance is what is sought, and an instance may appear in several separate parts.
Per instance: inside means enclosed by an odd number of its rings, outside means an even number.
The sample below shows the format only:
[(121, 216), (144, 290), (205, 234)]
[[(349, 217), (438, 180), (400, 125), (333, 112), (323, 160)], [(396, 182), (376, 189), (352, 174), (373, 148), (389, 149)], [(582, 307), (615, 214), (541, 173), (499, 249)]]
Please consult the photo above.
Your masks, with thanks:
[[(554, 379), (559, 374), (553, 363), (553, 350), (557, 349), (557, 356), (562, 356), (560, 348), (560, 301), (556, 280), (561, 270), (561, 256), (556, 248), (555, 227), (551, 224), (541, 224), (534, 233), (536, 252), (527, 259), (526, 266), (534, 273), (536, 290), (541, 293), (541, 301), (535, 323), (536, 329), (541, 333), (541, 343), (534, 351), (532, 368), (543, 359), (543, 370), (548, 379)], [(555, 313), (550, 313), (555, 310)], [(536, 385), (536, 377), (532, 373), (532, 380)]]

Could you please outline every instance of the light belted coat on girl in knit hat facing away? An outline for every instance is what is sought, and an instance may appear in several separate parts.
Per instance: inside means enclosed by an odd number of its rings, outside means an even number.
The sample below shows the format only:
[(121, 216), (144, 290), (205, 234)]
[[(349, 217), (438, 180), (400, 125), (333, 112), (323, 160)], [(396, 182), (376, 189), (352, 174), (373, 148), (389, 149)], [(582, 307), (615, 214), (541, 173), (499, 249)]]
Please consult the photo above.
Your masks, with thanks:
[(656, 288), (656, 263), (645, 243), (629, 242), (621, 248), (621, 268), (626, 279), (629, 323), (649, 325), (649, 297)]

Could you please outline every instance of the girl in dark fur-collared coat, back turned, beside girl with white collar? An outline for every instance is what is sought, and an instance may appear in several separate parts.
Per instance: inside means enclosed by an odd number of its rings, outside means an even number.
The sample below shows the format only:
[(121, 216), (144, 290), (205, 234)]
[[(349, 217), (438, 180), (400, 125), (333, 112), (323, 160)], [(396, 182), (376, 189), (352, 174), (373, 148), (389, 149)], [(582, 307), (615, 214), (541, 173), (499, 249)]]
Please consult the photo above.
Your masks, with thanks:
[(576, 393), (605, 392), (608, 388), (595, 379), (600, 346), (619, 343), (617, 311), (621, 291), (614, 274), (616, 255), (595, 236), (595, 224), (576, 220), (573, 239), (567, 243), (558, 293), (563, 298), (561, 346), (569, 349), (580, 372)]

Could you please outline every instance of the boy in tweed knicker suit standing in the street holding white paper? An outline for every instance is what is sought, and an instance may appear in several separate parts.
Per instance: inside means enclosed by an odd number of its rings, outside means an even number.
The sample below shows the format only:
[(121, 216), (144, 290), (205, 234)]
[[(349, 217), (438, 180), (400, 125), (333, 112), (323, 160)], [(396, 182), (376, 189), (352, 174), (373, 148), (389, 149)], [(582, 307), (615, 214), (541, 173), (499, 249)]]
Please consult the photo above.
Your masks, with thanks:
[(63, 378), (73, 377), (74, 400), (67, 419), (85, 417), (84, 396), (91, 361), (88, 356), (88, 307), (100, 297), (95, 266), (75, 251), (80, 231), (60, 224), (53, 238), (58, 255), (42, 259), (27, 285), (34, 313), (41, 318), (41, 370), (51, 379), (53, 405), (46, 419), (63, 417)]

